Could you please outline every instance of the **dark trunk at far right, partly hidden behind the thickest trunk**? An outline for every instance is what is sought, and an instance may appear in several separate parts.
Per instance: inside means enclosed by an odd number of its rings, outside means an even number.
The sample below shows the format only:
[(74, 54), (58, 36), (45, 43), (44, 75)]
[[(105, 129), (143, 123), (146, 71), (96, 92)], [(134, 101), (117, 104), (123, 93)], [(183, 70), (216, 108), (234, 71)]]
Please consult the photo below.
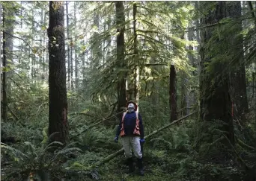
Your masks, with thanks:
[[(232, 2), (228, 11), (231, 18), (237, 19), (241, 17), (241, 3), (240, 1)], [(240, 34), (243, 31), (242, 21), (237, 22), (236, 28), (234, 28), (234, 34)], [(243, 57), (243, 35), (240, 34), (237, 38), (234, 38), (231, 42), (232, 49), (235, 52), (241, 52), (235, 62), (234, 72), (231, 72), (231, 92), (232, 102), (235, 117), (244, 121), (245, 114), (249, 111), (247, 93), (246, 93), (246, 69), (245, 61)], [(243, 121), (240, 123), (243, 124)]]

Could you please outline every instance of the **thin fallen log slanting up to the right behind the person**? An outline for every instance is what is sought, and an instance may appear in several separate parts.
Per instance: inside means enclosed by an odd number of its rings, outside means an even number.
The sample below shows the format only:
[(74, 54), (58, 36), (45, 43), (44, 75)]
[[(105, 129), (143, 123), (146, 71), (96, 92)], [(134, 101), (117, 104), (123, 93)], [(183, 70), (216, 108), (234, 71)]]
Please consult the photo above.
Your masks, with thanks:
[[(195, 112), (197, 112), (197, 111), (195, 111)], [(156, 133), (159, 133), (159, 131), (162, 131), (165, 128), (170, 127), (171, 125), (176, 124), (177, 122), (180, 122), (180, 121), (182, 121), (185, 118), (188, 118), (190, 115), (195, 114), (195, 112), (192, 112), (189, 115), (185, 115), (183, 118), (179, 118), (179, 119), (177, 119), (175, 121), (172, 121), (171, 123), (165, 125), (164, 127), (160, 127), (158, 130), (154, 130), (152, 133), (150, 133), (149, 135), (145, 136), (144, 139), (148, 139), (148, 138), (150, 138), (150, 136), (153, 136)], [(114, 159), (115, 156), (118, 156), (119, 154), (123, 153), (123, 151), (124, 151), (124, 148), (121, 148), (120, 150), (116, 151), (115, 153), (112, 153), (111, 155), (106, 156), (104, 159), (101, 159), (100, 161), (96, 162), (94, 165), (91, 165), (91, 168), (97, 167), (97, 166), (99, 166), (99, 165), (101, 165), (101, 164), (103, 164), (105, 162), (108, 162), (111, 159)]]

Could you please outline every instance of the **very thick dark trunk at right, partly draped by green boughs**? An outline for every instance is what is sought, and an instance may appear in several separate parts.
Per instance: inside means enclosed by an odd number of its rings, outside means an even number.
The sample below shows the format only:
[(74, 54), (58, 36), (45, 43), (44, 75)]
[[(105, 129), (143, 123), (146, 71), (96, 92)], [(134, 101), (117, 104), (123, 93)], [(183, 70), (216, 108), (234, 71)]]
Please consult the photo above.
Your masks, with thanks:
[[(201, 7), (204, 7), (209, 2), (201, 1)], [(212, 25), (226, 17), (228, 12), (227, 1), (217, 1), (215, 10), (210, 10), (207, 16), (201, 19), (201, 25)], [(215, 28), (215, 27), (213, 27)], [(220, 120), (225, 124), (218, 125), (219, 130), (222, 130), (231, 144), (234, 144), (234, 124), (231, 118), (231, 96), (229, 92), (229, 73), (227, 72), (227, 63), (211, 62), (213, 48), (208, 44), (211, 36), (213, 36), (213, 28), (204, 28), (201, 31), (201, 72), (200, 72), (200, 120), (204, 126), (199, 129), (199, 144), (205, 142), (214, 142), (216, 137), (209, 133), (213, 122)], [(219, 41), (219, 39), (217, 39)], [(217, 43), (216, 43), (217, 44)], [(222, 52), (215, 52), (223, 54)], [(209, 66), (214, 67), (211, 72), (207, 72)], [(209, 124), (207, 124), (209, 123)], [(219, 122), (218, 122), (219, 124)], [(205, 136), (207, 134), (207, 136)], [(217, 133), (215, 133), (217, 134)], [(222, 134), (221, 134), (222, 136)], [(226, 143), (228, 145), (228, 143)], [(199, 145), (198, 145), (199, 146)]]

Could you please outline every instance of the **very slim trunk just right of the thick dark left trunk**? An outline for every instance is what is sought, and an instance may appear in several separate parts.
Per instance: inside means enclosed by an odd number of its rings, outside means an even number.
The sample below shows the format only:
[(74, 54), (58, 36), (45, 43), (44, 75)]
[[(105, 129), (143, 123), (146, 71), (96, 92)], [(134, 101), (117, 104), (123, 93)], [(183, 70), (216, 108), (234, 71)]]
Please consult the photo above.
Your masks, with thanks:
[[(66, 1), (66, 21), (67, 21), (67, 42), (70, 41), (70, 18), (68, 16), (68, 1)], [(70, 89), (70, 45), (67, 43), (67, 87)]]

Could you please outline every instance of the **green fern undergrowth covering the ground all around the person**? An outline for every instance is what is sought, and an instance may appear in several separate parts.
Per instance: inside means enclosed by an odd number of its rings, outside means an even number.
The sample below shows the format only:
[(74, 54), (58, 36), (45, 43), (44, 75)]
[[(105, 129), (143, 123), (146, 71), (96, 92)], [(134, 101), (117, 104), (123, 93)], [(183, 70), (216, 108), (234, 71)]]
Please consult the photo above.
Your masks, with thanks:
[[(1, 144), (1, 178), (4, 180), (19, 180), (29, 174), (34, 177), (51, 177), (65, 180), (246, 180), (243, 166), (237, 161), (234, 150), (227, 150), (230, 157), (222, 162), (214, 162), (211, 156), (219, 151), (218, 140), (220, 134), (216, 132), (218, 124), (210, 129), (213, 139), (201, 150), (195, 149), (198, 124), (195, 120), (186, 120), (182, 124), (174, 125), (147, 139), (144, 144), (144, 171), (145, 176), (138, 174), (124, 174), (127, 170), (124, 154), (106, 162), (100, 167), (91, 168), (111, 153), (121, 149), (121, 139), (118, 144), (113, 142), (115, 136), (114, 120), (112, 125), (90, 127), (97, 119), (107, 114), (102, 112), (94, 119), (86, 115), (70, 116), (70, 145), (49, 153), (46, 140), (46, 121), (29, 121), (21, 124), (2, 124), (4, 136), (13, 136), (16, 143)], [(153, 131), (147, 127), (153, 120), (145, 124), (145, 134)], [(167, 122), (166, 122), (167, 123)], [(162, 122), (164, 124), (164, 121)], [(155, 127), (156, 129), (156, 127)], [(246, 127), (241, 130), (235, 127), (235, 135), (243, 144), (235, 145), (234, 149), (249, 165), (255, 166), (256, 154), (254, 150), (255, 127)], [(61, 143), (55, 143), (61, 145)], [(215, 145), (209, 147), (209, 145)], [(217, 145), (217, 147), (216, 147)], [(222, 147), (225, 148), (225, 147)], [(217, 153), (217, 152), (216, 152)], [(219, 152), (218, 152), (219, 153)]]

